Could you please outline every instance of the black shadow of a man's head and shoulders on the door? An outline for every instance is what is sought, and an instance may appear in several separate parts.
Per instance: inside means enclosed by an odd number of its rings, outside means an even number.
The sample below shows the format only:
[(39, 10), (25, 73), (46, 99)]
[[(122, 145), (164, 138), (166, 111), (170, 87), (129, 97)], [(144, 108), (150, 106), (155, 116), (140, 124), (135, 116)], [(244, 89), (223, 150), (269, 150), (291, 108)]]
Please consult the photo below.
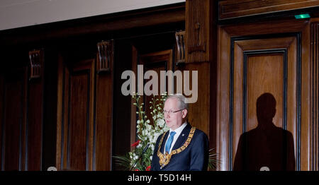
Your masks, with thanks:
[(240, 136), (233, 170), (295, 170), (293, 136), (272, 122), (276, 100), (271, 93), (258, 97), (256, 113), (258, 126)]

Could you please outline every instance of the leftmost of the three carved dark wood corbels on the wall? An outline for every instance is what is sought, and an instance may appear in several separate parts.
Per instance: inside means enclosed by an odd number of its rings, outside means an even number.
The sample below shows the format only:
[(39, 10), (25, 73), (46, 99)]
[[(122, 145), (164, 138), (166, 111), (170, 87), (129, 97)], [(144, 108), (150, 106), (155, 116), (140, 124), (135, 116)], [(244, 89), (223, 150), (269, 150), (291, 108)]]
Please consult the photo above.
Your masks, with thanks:
[(43, 51), (33, 50), (29, 52), (30, 77), (29, 80), (41, 78), (43, 68)]

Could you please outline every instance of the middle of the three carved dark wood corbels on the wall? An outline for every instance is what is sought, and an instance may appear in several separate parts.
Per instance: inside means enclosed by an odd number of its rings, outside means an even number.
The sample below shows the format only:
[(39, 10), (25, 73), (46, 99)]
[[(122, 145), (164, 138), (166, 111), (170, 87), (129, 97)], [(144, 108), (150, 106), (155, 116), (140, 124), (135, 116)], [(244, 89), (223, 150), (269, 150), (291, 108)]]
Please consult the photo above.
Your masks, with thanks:
[(97, 44), (98, 60), (97, 73), (111, 72), (111, 64), (113, 64), (113, 40), (101, 41)]

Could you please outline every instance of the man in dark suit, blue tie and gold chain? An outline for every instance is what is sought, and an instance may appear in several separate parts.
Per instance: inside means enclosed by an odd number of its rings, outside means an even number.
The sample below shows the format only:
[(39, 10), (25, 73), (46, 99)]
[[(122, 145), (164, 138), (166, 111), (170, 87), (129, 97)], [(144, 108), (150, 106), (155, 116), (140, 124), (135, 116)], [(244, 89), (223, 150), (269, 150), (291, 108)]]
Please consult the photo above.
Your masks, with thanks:
[(169, 131), (157, 138), (151, 170), (207, 170), (208, 137), (186, 122), (187, 108), (183, 95), (167, 97), (164, 119)]

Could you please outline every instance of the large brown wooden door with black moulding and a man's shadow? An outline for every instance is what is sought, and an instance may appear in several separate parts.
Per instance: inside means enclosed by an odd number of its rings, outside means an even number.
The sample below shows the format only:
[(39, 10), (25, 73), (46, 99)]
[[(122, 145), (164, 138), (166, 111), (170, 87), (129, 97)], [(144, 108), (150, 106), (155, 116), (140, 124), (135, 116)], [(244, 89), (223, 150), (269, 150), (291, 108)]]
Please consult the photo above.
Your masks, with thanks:
[(310, 169), (309, 33), (306, 21), (218, 28), (220, 170)]

